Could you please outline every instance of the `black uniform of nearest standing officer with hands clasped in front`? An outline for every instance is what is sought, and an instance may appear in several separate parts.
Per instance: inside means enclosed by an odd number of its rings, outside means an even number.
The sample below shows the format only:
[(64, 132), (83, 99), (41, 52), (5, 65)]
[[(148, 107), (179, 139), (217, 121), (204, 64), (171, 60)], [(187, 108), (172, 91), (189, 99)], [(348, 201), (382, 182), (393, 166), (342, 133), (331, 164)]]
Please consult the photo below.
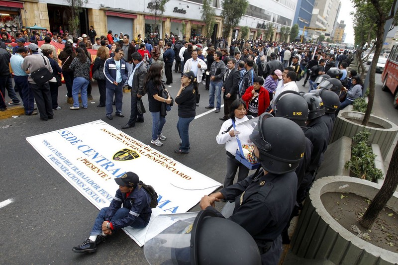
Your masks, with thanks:
[[(228, 219), (252, 235), (260, 249), (262, 264), (279, 262), (282, 253), (280, 235), (295, 205), (296, 190), (296, 173), (264, 175), (261, 172), (220, 191), (227, 200), (235, 200), (235, 209)], [(212, 206), (206, 209), (222, 217)]]

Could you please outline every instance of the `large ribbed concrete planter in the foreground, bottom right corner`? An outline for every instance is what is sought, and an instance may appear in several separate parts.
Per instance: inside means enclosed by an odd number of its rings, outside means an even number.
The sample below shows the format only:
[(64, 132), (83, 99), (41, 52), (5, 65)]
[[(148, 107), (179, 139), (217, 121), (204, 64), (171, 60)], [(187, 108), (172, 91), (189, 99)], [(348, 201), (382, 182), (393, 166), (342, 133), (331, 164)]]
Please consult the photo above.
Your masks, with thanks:
[[(328, 192), (354, 193), (373, 199), (381, 185), (354, 177), (332, 176), (316, 180), (309, 191), (292, 239), (292, 252), (306, 259), (326, 259), (334, 264), (393, 265), (398, 254), (376, 247), (343, 228), (323, 206)], [(398, 192), (387, 206), (398, 211)]]

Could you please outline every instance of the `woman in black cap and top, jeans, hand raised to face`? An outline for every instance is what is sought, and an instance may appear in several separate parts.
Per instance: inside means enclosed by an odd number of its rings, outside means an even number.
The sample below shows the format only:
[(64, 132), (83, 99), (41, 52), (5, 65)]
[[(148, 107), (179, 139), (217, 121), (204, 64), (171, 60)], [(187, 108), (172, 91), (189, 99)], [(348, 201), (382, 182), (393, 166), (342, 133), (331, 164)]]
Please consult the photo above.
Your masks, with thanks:
[(189, 127), (196, 115), (196, 100), (198, 94), (198, 82), (194, 72), (184, 72), (181, 78), (181, 87), (176, 96), (178, 104), (177, 130), (180, 135), (180, 148), (174, 150), (177, 154), (188, 154), (190, 152)]

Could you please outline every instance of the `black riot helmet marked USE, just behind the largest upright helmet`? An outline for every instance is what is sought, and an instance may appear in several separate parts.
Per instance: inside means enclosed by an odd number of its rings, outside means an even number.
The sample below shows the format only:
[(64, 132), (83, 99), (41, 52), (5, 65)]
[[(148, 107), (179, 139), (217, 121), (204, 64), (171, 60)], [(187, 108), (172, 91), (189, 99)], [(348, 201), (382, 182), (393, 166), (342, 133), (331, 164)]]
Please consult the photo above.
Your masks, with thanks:
[(284, 117), (305, 126), (308, 119), (307, 101), (298, 92), (293, 90), (283, 91), (275, 99), (275, 116)]

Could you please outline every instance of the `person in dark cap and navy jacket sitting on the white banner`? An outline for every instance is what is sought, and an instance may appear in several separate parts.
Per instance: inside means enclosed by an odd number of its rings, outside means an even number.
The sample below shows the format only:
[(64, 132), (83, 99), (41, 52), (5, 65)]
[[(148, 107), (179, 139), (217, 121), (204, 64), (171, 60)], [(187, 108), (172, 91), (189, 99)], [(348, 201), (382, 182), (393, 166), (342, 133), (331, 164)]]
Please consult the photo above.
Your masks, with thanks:
[(136, 188), (139, 182), (137, 174), (127, 172), (119, 178), (114, 178), (119, 188), (110, 202), (109, 207), (100, 210), (90, 237), (78, 247), (72, 248), (76, 253), (93, 253), (97, 245), (105, 241), (105, 236), (115, 230), (127, 226), (143, 228), (148, 225), (152, 209), (151, 196), (144, 188)]

